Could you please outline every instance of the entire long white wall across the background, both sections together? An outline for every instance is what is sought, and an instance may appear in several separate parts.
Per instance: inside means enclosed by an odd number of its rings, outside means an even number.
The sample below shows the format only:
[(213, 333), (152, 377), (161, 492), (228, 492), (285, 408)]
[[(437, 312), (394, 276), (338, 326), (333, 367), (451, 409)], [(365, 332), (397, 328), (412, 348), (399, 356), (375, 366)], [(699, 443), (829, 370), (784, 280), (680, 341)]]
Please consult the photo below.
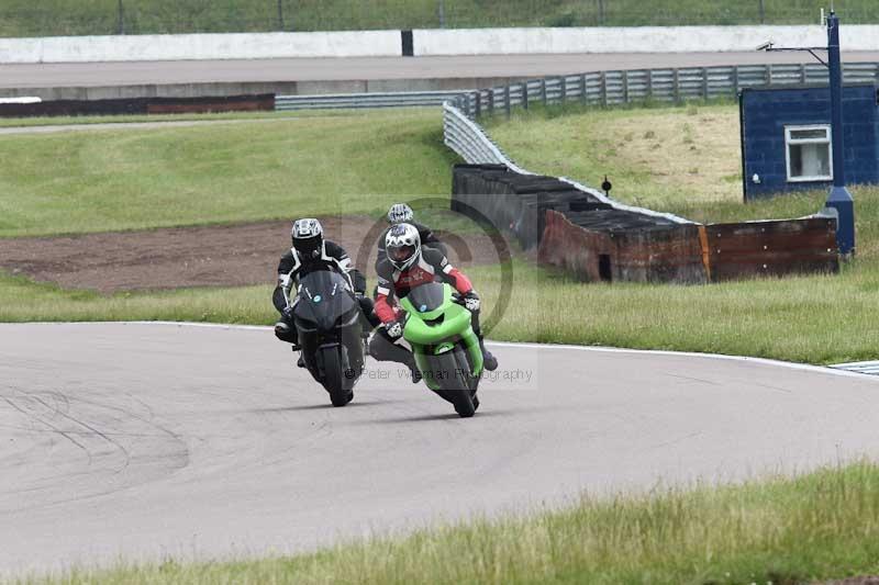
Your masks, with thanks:
[[(0, 63), (99, 63), (560, 53), (700, 53), (825, 46), (822, 26), (627, 26), (0, 38)], [(846, 25), (845, 50), (879, 50), (879, 25)]]

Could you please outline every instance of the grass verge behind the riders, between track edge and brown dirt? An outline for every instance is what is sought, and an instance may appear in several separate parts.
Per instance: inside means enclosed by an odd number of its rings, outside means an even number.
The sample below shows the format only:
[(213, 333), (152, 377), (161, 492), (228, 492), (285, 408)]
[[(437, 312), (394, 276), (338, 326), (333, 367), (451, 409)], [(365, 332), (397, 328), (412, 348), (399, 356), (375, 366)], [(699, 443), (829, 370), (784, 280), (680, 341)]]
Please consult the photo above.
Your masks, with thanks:
[[(467, 272), (490, 314), (501, 289), (499, 268)], [(269, 325), (277, 317), (270, 292), (265, 285), (102, 296), (0, 275), (0, 322)], [(583, 285), (516, 261), (509, 308), (490, 337), (841, 363), (879, 357), (877, 292), (879, 275), (866, 272), (711, 286)]]

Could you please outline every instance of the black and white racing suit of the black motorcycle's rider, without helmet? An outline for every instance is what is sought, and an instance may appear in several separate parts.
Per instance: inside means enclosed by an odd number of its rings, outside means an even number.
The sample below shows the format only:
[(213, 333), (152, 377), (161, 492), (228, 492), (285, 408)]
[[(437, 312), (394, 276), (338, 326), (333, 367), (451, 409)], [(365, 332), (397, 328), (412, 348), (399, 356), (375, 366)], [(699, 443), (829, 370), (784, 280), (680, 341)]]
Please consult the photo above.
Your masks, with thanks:
[(299, 301), (296, 288), (305, 274), (318, 270), (332, 270), (343, 274), (354, 290), (364, 316), (374, 326), (372, 301), (365, 296), (366, 278), (351, 263), (348, 254), (338, 244), (324, 240), (320, 258), (304, 259), (296, 248), (290, 248), (278, 263), (278, 284), (271, 294), (275, 308), (281, 314), (275, 335), (282, 341), (297, 345), (298, 335), (293, 323), (293, 307)]

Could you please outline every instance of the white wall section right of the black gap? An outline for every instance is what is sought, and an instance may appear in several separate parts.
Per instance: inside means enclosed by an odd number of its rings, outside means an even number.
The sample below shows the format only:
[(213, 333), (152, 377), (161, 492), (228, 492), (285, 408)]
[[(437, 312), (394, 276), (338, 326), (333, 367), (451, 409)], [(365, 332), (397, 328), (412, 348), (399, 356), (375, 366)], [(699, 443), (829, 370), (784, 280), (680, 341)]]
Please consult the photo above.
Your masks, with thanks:
[[(825, 46), (822, 26), (636, 26), (414, 31), (415, 56), (561, 53), (698, 53)], [(842, 27), (843, 50), (879, 49), (879, 26)]]

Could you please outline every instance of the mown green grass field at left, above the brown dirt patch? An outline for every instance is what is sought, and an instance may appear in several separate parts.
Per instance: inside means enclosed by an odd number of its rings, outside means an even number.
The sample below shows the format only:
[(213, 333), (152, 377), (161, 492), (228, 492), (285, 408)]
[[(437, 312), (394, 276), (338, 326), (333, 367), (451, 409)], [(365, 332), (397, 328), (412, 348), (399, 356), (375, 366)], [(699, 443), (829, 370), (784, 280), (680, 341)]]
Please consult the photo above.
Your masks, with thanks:
[(447, 196), (436, 109), (0, 136), (0, 237), (371, 213)]

